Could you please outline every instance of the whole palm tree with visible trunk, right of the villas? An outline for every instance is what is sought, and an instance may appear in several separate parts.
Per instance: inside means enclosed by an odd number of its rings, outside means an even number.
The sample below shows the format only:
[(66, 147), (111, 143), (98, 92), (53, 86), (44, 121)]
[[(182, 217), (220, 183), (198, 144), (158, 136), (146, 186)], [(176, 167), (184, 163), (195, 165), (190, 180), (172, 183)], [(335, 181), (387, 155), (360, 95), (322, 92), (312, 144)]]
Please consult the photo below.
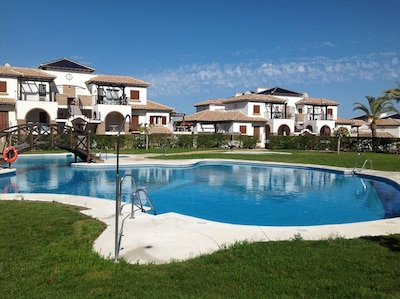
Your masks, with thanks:
[(371, 128), (372, 137), (376, 137), (377, 120), (383, 113), (397, 112), (397, 109), (394, 107), (389, 97), (384, 96), (380, 98), (374, 98), (366, 96), (366, 98), (368, 100), (369, 106), (365, 106), (360, 102), (356, 102), (354, 103), (355, 107), (353, 108), (353, 111), (361, 110), (365, 113), (368, 125)]

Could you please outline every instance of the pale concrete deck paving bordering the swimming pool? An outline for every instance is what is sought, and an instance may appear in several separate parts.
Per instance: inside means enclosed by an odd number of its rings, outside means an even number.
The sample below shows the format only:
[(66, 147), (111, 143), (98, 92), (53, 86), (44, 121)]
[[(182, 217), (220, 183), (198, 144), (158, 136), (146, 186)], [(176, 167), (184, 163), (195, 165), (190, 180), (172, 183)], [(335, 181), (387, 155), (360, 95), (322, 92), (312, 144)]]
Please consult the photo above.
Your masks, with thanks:
[[(182, 165), (204, 160), (155, 160), (144, 155), (121, 156), (120, 165)], [(215, 161), (215, 160), (213, 160)], [(253, 161), (254, 162), (254, 161)], [(74, 167), (104, 167), (115, 165), (115, 159), (104, 163), (80, 164)], [(279, 163), (273, 163), (279, 164)], [(284, 163), (287, 165), (287, 163)], [(298, 165), (297, 165), (298, 166)], [(329, 168), (332, 167), (322, 167)], [(339, 169), (342, 171), (351, 171)], [(400, 172), (364, 170), (363, 174), (382, 176), (400, 184)], [(151, 195), (150, 195), (151, 198)], [(107, 227), (94, 243), (94, 250), (105, 258), (114, 259), (115, 254), (115, 201), (72, 195), (57, 194), (2, 194), (1, 199), (55, 201), (84, 207), (82, 213), (104, 222)], [(119, 216), (119, 227), (128, 215), (126, 207)], [(239, 241), (290, 240), (301, 236), (305, 240), (327, 238), (357, 238), (400, 233), (400, 218), (351, 224), (320, 226), (248, 226), (218, 223), (177, 213), (151, 215), (135, 212), (134, 219), (124, 222), (119, 257), (130, 263), (168, 263), (187, 260), (212, 253)]]

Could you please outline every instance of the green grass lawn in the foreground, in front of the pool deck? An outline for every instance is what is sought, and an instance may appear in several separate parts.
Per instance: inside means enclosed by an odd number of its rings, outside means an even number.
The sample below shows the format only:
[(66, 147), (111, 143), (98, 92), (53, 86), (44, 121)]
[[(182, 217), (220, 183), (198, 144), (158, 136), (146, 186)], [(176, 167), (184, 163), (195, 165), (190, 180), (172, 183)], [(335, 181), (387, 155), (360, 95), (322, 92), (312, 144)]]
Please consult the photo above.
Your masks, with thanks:
[(104, 225), (77, 207), (0, 201), (0, 210), (0, 298), (400, 298), (399, 235), (243, 242), (185, 262), (115, 264), (92, 251)]

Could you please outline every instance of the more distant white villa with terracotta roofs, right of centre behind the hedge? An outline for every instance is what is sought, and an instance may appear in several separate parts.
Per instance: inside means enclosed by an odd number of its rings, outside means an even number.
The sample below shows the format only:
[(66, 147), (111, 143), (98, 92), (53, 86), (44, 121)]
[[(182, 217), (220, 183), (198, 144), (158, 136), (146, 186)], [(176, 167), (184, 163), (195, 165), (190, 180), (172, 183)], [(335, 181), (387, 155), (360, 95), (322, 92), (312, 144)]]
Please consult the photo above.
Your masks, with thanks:
[(197, 103), (196, 113), (180, 122), (194, 133), (246, 134), (268, 146), (271, 135), (331, 135), (339, 103), (310, 98), (280, 87), (238, 93)]

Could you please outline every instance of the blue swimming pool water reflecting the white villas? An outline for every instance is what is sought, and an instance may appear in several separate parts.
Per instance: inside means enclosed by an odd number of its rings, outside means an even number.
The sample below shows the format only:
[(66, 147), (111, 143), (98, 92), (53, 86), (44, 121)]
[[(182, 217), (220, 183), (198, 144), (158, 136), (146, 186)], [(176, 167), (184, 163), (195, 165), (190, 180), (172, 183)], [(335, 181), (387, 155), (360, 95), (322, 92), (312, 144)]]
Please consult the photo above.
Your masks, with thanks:
[[(0, 190), (115, 200), (116, 167), (71, 167), (72, 155), (21, 155)], [(400, 187), (382, 179), (262, 163), (120, 166), (136, 178), (157, 212), (246, 225), (319, 225), (400, 216)], [(124, 183), (123, 200), (130, 198)]]

